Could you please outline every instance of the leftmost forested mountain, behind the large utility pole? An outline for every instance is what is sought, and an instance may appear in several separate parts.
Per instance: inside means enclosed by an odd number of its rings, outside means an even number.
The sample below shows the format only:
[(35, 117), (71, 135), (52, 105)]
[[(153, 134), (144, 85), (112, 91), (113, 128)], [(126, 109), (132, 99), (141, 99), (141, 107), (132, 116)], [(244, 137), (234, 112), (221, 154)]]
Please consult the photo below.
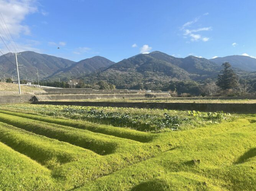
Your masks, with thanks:
[[(40, 78), (42, 79), (75, 63), (74, 61), (64, 58), (31, 51), (21, 52), (21, 55), (17, 55), (17, 57), (18, 63), (23, 65), (19, 67), (21, 79), (36, 79), (36, 68), (38, 68)], [(8, 60), (10, 60), (10, 62)], [(3, 74), (9, 78), (11, 78), (12, 75), (14, 79), (17, 78), (16, 61), (12, 53), (0, 56), (0, 76), (2, 77)]]

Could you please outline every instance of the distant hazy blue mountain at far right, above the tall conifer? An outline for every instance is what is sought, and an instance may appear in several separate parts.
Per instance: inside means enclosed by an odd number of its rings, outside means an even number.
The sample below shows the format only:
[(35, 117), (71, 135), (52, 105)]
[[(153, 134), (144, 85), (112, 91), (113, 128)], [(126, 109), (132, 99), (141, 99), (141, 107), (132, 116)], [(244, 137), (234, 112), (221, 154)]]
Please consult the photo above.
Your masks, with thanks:
[(256, 71), (256, 59), (247, 56), (233, 55), (227, 57), (218, 57), (210, 59), (210, 61), (219, 65), (224, 62), (229, 62), (235, 68), (240, 68), (241, 70), (245, 71)]

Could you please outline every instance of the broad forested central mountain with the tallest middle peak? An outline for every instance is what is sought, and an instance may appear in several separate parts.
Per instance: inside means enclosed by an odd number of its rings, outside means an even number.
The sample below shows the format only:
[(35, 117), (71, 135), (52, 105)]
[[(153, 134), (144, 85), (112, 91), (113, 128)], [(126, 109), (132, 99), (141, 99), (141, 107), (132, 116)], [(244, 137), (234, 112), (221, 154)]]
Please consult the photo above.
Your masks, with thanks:
[[(170, 80), (215, 78), (221, 67), (205, 58), (175, 58), (155, 51), (124, 59), (106, 70), (84, 76), (87, 83), (107, 80), (117, 87), (130, 88), (139, 83), (167, 83)], [(124, 85), (126, 84), (126, 85)]]

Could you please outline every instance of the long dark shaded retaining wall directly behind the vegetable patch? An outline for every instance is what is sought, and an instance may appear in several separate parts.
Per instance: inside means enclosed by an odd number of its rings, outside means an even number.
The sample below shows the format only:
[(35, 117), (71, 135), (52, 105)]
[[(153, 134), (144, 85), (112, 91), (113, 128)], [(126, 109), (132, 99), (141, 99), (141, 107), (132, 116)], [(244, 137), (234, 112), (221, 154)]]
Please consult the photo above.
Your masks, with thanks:
[(223, 111), (229, 113), (256, 113), (256, 104), (207, 104), (207, 103), (143, 103), (143, 102), (34, 102), (35, 104), (80, 105), (98, 107), (136, 107), (170, 110), (196, 110), (201, 112)]

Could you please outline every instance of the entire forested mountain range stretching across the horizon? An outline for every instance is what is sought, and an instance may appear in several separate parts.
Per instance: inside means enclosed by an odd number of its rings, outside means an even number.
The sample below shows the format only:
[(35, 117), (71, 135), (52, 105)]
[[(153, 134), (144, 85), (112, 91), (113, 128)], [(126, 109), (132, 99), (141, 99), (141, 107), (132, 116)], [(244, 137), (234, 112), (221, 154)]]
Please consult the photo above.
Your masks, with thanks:
[[(233, 55), (223, 58), (176, 58), (154, 51), (138, 54), (118, 63), (96, 56), (79, 62), (46, 54), (26, 51), (18, 55), (21, 79), (36, 79), (36, 68), (43, 80), (84, 79), (86, 83), (107, 80), (119, 87), (121, 84), (156, 83), (169, 80), (204, 80), (216, 78), (223, 62), (230, 62), (234, 70), (244, 78), (255, 78), (256, 59)], [(0, 77), (16, 76), (15, 55), (0, 56)]]

